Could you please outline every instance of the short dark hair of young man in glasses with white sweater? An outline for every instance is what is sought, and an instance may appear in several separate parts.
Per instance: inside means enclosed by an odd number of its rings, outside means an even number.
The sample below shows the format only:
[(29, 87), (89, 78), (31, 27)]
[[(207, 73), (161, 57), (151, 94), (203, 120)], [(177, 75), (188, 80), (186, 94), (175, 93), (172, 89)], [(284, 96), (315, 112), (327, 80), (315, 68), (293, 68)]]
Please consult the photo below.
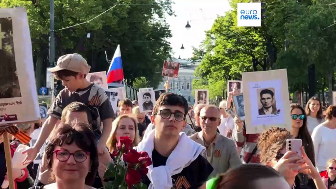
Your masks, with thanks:
[(184, 114), (187, 115), (189, 112), (189, 105), (186, 98), (181, 95), (174, 93), (163, 93), (160, 95), (159, 99), (155, 103), (153, 109), (153, 114), (156, 114), (159, 111), (160, 106), (170, 105), (170, 106), (179, 106), (184, 108)]

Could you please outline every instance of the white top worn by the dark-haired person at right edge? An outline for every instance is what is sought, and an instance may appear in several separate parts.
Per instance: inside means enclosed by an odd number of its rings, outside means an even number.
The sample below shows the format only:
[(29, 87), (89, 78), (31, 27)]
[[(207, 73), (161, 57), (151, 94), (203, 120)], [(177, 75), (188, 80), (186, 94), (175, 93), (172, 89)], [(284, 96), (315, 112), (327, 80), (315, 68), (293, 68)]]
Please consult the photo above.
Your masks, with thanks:
[(336, 158), (336, 129), (329, 129), (319, 124), (312, 132), (312, 142), (317, 171), (325, 171), (328, 160)]

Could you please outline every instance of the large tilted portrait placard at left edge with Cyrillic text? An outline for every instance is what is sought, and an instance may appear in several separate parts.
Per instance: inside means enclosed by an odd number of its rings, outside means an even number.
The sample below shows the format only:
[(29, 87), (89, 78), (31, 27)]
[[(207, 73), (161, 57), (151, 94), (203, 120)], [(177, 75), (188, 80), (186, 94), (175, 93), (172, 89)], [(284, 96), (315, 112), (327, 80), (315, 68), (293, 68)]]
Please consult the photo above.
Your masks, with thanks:
[(32, 46), (24, 8), (0, 9), (0, 122), (40, 122)]

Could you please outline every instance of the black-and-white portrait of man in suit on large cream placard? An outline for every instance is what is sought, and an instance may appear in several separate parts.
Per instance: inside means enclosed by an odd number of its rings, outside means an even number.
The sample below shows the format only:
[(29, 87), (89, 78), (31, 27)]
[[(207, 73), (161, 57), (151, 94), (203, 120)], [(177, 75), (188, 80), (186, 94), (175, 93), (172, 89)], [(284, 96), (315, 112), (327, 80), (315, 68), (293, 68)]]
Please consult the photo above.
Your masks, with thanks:
[(276, 112), (274, 88), (258, 89), (257, 94), (259, 98), (258, 114), (270, 115)]

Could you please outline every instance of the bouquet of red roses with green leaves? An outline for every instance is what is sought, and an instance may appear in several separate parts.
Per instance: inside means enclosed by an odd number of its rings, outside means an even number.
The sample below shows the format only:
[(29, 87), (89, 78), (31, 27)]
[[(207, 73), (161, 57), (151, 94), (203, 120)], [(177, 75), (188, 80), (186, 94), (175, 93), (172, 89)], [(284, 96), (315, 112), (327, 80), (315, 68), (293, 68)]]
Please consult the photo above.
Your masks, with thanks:
[(147, 166), (152, 165), (152, 160), (147, 152), (137, 152), (131, 145), (129, 137), (119, 138), (117, 150), (112, 153), (117, 162), (107, 165), (104, 174), (104, 179), (113, 181), (109, 181), (105, 189), (147, 189), (141, 178), (147, 174)]

